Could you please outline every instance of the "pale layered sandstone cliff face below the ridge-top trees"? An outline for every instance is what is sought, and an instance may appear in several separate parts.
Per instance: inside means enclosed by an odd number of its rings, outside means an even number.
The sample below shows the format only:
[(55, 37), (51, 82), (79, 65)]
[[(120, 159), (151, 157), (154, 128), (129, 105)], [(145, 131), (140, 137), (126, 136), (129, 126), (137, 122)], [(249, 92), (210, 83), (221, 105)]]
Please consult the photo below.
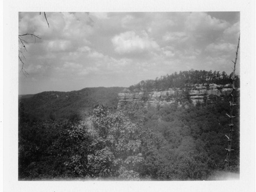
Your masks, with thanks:
[(232, 84), (216, 85), (216, 84), (195, 84), (185, 85), (184, 89), (168, 89), (165, 91), (130, 91), (124, 89), (120, 92), (119, 104), (127, 103), (143, 103), (146, 106), (162, 107), (164, 105), (192, 101), (194, 105), (197, 102), (204, 103), (206, 101), (217, 100), (218, 98), (229, 95), (232, 92)]

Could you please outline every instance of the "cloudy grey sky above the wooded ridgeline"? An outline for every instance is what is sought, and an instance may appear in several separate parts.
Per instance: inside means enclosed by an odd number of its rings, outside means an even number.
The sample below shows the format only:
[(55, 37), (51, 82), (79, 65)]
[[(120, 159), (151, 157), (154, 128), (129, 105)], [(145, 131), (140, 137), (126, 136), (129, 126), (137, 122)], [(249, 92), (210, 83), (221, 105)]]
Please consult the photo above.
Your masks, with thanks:
[[(194, 70), (232, 72), (239, 12), (20, 12), (19, 94), (129, 87)], [(19, 42), (21, 47), (21, 43)], [(239, 74), (239, 57), (236, 72)], [(22, 63), (19, 63), (21, 71)]]

